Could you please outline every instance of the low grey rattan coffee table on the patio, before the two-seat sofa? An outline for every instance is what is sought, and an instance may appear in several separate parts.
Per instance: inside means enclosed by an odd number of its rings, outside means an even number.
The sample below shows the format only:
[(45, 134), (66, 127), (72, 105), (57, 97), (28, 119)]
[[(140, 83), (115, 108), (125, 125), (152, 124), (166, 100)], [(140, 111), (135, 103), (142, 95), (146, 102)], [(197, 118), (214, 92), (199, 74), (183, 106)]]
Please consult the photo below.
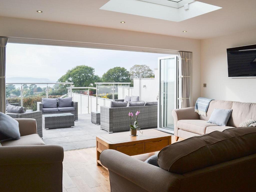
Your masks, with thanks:
[(72, 113), (58, 113), (58, 114), (45, 114), (42, 115), (43, 129), (73, 127), (74, 114)]

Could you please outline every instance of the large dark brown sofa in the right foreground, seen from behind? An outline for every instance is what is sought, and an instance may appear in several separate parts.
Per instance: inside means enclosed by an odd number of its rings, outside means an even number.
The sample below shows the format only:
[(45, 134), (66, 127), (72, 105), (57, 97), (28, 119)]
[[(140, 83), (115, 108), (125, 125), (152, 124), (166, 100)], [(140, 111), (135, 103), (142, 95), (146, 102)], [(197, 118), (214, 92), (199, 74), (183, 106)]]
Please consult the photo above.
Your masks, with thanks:
[(256, 190), (256, 128), (188, 138), (163, 148), (147, 164), (115, 150), (100, 155), (111, 192), (235, 192)]

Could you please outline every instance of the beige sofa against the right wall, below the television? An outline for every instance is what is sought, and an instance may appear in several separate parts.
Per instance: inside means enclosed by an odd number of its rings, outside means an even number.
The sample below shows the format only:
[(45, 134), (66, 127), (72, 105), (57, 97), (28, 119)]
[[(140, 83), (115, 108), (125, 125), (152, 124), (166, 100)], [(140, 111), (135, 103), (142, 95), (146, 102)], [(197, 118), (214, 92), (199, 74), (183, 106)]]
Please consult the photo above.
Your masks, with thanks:
[[(233, 109), (228, 126), (207, 123), (215, 108)], [(213, 100), (209, 103), (206, 117), (198, 115), (195, 112), (195, 107), (172, 110), (172, 115), (174, 118), (174, 135), (177, 141), (179, 137), (186, 139), (213, 131), (223, 131), (228, 128), (239, 127), (242, 122), (249, 119), (256, 120), (256, 103)]]

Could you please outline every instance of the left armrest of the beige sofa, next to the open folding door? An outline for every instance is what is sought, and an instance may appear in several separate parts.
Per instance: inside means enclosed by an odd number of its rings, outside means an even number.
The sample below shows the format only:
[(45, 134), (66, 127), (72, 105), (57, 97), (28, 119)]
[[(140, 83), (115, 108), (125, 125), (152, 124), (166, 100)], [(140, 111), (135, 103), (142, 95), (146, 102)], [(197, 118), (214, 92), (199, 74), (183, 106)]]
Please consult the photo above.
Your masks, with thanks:
[(175, 136), (178, 136), (177, 122), (179, 120), (199, 119), (198, 113), (195, 112), (195, 107), (174, 109), (172, 110), (172, 116), (174, 119), (174, 135)]

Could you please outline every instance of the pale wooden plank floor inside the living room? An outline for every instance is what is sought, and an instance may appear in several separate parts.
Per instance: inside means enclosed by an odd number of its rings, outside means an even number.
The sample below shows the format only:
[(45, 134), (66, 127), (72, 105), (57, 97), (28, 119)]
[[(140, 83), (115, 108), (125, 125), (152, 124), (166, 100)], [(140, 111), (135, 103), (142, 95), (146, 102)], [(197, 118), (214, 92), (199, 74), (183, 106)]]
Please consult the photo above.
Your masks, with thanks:
[[(174, 136), (172, 143), (175, 142)], [(157, 153), (157, 152), (156, 152)], [(145, 161), (155, 153), (132, 156)], [(65, 192), (110, 192), (108, 172), (96, 165), (96, 148), (64, 152), (63, 191)]]

